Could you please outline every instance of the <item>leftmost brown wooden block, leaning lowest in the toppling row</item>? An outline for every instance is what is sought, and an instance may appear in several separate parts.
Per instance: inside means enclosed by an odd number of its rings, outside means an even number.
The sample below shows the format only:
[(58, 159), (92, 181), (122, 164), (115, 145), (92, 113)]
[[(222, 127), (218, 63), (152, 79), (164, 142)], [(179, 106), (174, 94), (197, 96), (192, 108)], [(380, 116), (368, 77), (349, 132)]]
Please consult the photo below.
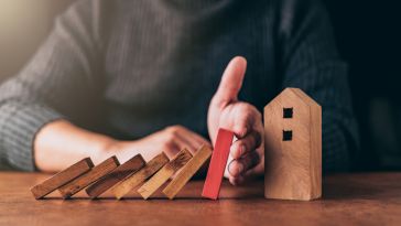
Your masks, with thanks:
[(31, 187), (31, 192), (36, 200), (42, 198), (64, 184), (88, 172), (93, 166), (94, 163), (90, 158), (85, 158), (46, 181)]

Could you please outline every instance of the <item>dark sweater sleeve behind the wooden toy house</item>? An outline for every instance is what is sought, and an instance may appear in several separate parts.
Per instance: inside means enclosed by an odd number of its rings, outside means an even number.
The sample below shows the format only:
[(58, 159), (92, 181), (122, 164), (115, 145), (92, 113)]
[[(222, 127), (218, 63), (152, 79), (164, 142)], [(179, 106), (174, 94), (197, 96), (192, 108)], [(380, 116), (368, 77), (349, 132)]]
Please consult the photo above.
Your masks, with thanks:
[(322, 106), (323, 171), (344, 171), (358, 147), (347, 66), (335, 47), (328, 13), (317, 0), (282, 1), (279, 10), (283, 87), (299, 87)]

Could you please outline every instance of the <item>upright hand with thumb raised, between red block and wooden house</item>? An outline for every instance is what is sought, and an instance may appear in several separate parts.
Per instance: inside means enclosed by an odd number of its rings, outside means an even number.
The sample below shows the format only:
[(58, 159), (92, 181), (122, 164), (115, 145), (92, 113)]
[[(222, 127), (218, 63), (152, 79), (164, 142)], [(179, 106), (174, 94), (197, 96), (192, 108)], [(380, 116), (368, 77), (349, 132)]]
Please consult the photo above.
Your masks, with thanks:
[(247, 61), (237, 56), (226, 67), (220, 85), (212, 98), (207, 126), (212, 142), (218, 128), (231, 130), (238, 140), (230, 148), (225, 176), (230, 183), (241, 184), (262, 174), (264, 169), (263, 125), (261, 114), (248, 103), (238, 100)]

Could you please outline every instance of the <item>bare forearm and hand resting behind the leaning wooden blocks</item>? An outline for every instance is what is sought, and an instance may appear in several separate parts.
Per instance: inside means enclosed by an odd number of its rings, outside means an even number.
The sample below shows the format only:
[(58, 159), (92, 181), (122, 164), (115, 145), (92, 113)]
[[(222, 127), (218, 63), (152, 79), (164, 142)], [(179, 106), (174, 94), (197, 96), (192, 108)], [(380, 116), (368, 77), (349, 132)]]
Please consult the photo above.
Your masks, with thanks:
[(40, 171), (57, 172), (87, 157), (95, 164), (111, 155), (123, 163), (139, 153), (149, 161), (162, 151), (172, 159), (183, 148), (194, 153), (203, 144), (212, 147), (203, 137), (181, 126), (167, 127), (139, 140), (120, 141), (59, 119), (36, 133), (33, 152)]

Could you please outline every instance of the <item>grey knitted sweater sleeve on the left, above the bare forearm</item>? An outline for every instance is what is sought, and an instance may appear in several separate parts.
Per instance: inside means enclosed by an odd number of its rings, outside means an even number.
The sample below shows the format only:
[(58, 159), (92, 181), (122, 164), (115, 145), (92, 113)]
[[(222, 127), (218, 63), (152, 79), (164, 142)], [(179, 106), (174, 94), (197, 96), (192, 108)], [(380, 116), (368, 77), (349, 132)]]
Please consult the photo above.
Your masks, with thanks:
[(8, 168), (34, 171), (36, 132), (94, 100), (96, 47), (86, 4), (59, 15), (34, 57), (0, 86), (0, 162)]

